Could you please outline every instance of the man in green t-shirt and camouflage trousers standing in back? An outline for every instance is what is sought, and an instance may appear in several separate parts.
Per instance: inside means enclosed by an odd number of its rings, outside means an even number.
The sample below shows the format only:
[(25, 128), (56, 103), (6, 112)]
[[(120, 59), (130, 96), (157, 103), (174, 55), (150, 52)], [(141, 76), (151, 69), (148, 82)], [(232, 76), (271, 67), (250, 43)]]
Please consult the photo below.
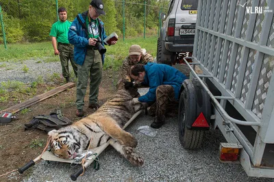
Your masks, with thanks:
[[(62, 65), (62, 74), (66, 78), (66, 82), (70, 81), (69, 74), (69, 60), (71, 60), (71, 65), (75, 76), (77, 77), (77, 65), (73, 59), (73, 44), (69, 44), (68, 32), (69, 27), (71, 27), (71, 22), (66, 20), (67, 14), (64, 7), (58, 9), (59, 21), (55, 22), (51, 27), (51, 42), (54, 49), (54, 55), (60, 56), (60, 61)], [(57, 44), (58, 42), (58, 44)]]

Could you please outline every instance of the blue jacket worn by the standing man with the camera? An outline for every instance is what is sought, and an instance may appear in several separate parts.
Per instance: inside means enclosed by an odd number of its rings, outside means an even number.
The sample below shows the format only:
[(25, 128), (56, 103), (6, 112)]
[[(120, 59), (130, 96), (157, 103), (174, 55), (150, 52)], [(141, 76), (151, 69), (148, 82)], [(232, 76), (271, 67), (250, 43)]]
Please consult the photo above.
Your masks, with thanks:
[[(69, 28), (69, 42), (74, 45), (74, 61), (79, 65), (83, 65), (86, 50), (88, 47), (88, 29), (86, 28), (86, 16), (88, 16), (88, 11), (78, 14), (73, 20), (71, 27)], [(107, 37), (105, 35), (105, 29), (103, 27), (103, 22), (99, 19), (99, 31), (101, 33), (101, 40), (103, 45), (103, 40)], [(102, 62), (104, 61), (105, 55), (102, 55)]]

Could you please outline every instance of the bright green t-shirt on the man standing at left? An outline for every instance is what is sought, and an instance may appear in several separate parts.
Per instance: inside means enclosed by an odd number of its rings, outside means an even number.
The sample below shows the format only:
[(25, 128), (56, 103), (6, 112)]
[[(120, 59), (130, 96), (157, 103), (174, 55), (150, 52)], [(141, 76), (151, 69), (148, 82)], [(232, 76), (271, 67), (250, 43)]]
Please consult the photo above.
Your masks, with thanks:
[(51, 27), (51, 33), (49, 35), (51, 37), (56, 37), (57, 42), (61, 42), (64, 44), (69, 44), (68, 33), (69, 27), (71, 27), (71, 22), (66, 20), (65, 22), (55, 22)]

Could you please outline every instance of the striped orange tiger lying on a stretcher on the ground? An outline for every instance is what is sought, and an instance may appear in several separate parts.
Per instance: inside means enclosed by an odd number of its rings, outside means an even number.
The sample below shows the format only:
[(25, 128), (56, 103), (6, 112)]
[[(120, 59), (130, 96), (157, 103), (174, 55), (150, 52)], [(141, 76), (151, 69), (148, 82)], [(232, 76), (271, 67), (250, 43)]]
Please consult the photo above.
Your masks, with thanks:
[(119, 80), (116, 93), (97, 111), (72, 125), (48, 133), (49, 148), (55, 156), (73, 160), (88, 149), (89, 145), (92, 149), (114, 138), (110, 145), (134, 166), (142, 166), (144, 160), (134, 151), (137, 140), (123, 130), (123, 126), (134, 113), (147, 106), (144, 103), (134, 104), (133, 97), (125, 89), (123, 82), (125, 80)]

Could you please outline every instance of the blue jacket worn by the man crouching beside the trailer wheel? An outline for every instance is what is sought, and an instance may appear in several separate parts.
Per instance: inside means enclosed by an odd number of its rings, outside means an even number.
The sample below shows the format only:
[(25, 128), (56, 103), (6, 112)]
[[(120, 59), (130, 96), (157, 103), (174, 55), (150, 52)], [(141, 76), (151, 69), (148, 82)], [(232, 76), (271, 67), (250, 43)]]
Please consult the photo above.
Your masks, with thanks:
[(149, 91), (138, 98), (140, 102), (155, 102), (156, 89), (160, 85), (171, 85), (175, 91), (175, 99), (179, 100), (179, 90), (187, 77), (170, 65), (147, 63), (143, 85), (149, 85)]

